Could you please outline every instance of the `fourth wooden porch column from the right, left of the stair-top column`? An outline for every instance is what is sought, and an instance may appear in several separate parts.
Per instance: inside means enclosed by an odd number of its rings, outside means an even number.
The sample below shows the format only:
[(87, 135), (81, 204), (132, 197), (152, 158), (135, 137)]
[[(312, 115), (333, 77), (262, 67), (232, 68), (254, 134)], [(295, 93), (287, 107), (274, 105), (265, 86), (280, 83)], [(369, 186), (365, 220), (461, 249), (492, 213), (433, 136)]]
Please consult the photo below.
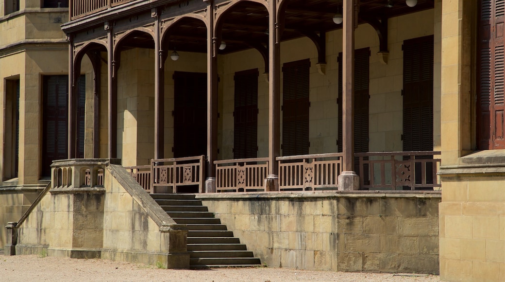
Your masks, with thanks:
[(155, 159), (164, 158), (165, 149), (165, 68), (161, 50), (160, 18), (157, 8), (151, 10), (155, 20)]

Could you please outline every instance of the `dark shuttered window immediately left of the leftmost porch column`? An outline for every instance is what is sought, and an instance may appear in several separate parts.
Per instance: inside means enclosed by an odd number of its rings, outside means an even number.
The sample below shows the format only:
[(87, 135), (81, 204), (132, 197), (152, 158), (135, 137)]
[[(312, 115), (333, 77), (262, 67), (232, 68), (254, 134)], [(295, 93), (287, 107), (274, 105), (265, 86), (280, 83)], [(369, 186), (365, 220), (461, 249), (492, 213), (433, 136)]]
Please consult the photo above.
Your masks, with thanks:
[(54, 160), (68, 158), (68, 76), (44, 76), (42, 176), (51, 175)]

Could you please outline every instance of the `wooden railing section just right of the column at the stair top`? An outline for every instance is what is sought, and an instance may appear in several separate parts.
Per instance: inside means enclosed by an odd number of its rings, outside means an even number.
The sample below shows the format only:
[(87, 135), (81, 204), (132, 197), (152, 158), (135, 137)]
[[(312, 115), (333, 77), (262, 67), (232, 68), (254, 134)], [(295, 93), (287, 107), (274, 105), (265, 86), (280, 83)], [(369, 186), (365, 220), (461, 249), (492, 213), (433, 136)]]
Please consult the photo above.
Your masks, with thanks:
[(265, 191), (268, 158), (215, 161), (217, 192)]

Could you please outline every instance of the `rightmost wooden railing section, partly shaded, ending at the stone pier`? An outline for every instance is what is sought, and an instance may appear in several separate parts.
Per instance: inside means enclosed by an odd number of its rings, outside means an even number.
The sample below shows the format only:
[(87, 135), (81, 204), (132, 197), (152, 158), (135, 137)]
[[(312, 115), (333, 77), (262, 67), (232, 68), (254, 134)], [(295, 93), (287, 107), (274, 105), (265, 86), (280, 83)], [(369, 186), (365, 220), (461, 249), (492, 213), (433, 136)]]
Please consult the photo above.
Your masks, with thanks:
[(356, 153), (360, 188), (364, 190), (433, 190), (440, 187), (440, 152)]

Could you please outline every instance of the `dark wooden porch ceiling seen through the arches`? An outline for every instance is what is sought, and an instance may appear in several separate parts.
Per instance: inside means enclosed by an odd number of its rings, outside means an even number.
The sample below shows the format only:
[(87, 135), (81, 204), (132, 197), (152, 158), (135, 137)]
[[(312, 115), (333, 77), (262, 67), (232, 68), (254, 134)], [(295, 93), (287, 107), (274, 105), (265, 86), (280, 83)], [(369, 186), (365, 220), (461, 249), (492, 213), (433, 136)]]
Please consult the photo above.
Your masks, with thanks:
[[(392, 6), (391, 6), (392, 5)], [(405, 0), (361, 0), (360, 24), (367, 20), (382, 20), (400, 15), (419, 12), (434, 7), (433, 0), (418, 0), (415, 7), (408, 7)], [(284, 31), (281, 40), (306, 36), (342, 28), (333, 22), (337, 11), (342, 11), (342, 0), (290, 0), (285, 5)], [(227, 54), (252, 48), (255, 44), (268, 43), (268, 11), (254, 2), (242, 2), (227, 11), (222, 18), (222, 40), (226, 49), (219, 54)], [(365, 20), (367, 19), (367, 20)], [(171, 28), (165, 39), (168, 49), (188, 52), (207, 52), (207, 30), (203, 22), (184, 19)], [(139, 34), (124, 42), (124, 48), (154, 48), (154, 41), (146, 34)]]

